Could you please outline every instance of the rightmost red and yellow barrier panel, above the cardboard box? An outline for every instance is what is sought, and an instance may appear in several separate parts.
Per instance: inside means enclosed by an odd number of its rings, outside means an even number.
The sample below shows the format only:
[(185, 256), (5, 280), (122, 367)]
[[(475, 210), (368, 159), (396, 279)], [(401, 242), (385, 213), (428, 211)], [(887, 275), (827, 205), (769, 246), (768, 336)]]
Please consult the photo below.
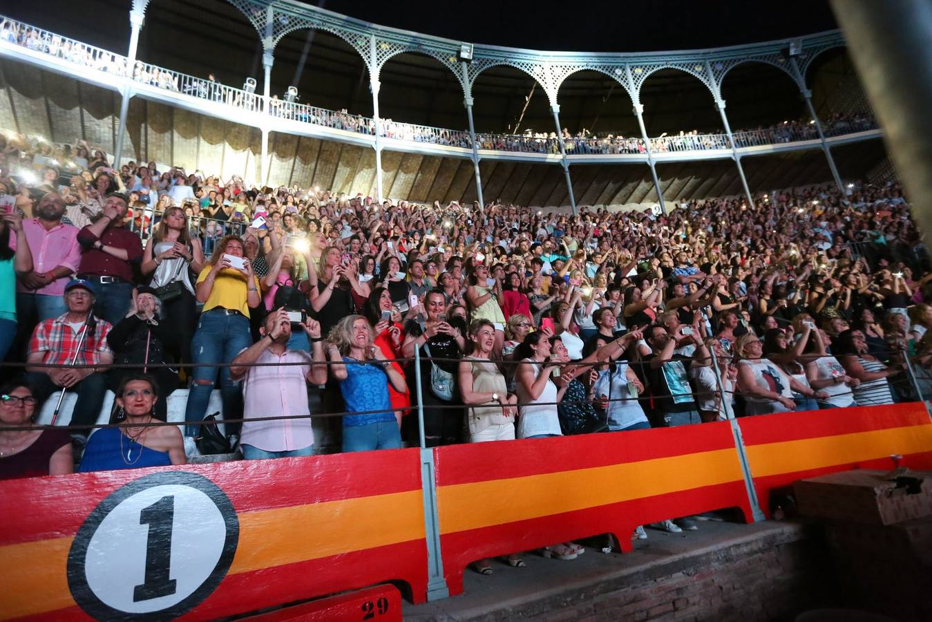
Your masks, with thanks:
[(922, 402), (783, 412), (738, 420), (761, 509), (774, 489), (849, 469), (932, 469), (932, 420)]

